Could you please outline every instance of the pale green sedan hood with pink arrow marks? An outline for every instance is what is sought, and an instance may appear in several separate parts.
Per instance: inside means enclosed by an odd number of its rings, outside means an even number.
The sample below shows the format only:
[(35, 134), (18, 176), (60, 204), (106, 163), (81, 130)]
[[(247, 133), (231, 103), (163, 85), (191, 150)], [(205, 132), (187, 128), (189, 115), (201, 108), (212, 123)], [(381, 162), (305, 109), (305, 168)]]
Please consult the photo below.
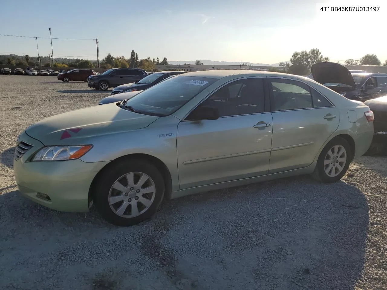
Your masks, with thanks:
[(107, 104), (48, 117), (29, 126), (26, 133), (44, 145), (79, 145), (101, 135), (144, 128), (158, 118)]

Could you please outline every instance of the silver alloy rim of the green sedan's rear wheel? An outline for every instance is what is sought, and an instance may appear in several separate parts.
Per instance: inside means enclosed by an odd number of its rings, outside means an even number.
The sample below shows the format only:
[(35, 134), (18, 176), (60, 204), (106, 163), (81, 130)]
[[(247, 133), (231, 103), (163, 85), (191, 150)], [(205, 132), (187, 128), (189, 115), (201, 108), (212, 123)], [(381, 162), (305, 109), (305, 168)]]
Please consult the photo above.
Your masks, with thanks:
[(335, 145), (325, 155), (324, 171), (329, 177), (339, 175), (347, 162), (347, 152), (342, 145)]

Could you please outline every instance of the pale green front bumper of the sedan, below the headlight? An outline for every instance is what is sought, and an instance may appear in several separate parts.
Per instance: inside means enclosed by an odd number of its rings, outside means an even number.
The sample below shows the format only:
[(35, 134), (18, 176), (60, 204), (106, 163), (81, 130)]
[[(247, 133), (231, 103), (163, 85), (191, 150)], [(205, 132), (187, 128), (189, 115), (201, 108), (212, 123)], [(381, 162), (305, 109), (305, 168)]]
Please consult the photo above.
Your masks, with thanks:
[[(19, 141), (33, 145), (19, 160), (14, 159), (17, 186), (22, 195), (53, 210), (87, 212), (89, 188), (96, 174), (108, 162), (29, 161), (43, 144), (23, 132)], [(47, 194), (50, 201), (39, 198)]]

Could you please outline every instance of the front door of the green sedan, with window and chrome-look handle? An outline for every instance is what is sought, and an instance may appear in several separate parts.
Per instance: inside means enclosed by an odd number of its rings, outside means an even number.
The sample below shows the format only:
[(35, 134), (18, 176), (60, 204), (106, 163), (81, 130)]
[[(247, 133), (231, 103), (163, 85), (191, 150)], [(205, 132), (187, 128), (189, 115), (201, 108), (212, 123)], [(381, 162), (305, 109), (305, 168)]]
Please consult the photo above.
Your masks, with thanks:
[(180, 189), (267, 174), (273, 127), (265, 110), (264, 78), (224, 85), (199, 106), (216, 107), (219, 119), (190, 121), (188, 116), (179, 123)]

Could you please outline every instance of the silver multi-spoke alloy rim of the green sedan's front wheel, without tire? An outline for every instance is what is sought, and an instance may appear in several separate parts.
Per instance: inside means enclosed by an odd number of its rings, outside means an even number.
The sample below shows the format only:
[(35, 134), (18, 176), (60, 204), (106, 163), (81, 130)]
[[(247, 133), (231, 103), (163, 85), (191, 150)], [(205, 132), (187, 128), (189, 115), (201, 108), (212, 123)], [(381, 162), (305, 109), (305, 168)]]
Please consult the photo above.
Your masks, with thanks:
[(130, 172), (113, 183), (108, 202), (116, 215), (133, 218), (146, 212), (155, 196), (156, 186), (151, 177), (142, 172)]

